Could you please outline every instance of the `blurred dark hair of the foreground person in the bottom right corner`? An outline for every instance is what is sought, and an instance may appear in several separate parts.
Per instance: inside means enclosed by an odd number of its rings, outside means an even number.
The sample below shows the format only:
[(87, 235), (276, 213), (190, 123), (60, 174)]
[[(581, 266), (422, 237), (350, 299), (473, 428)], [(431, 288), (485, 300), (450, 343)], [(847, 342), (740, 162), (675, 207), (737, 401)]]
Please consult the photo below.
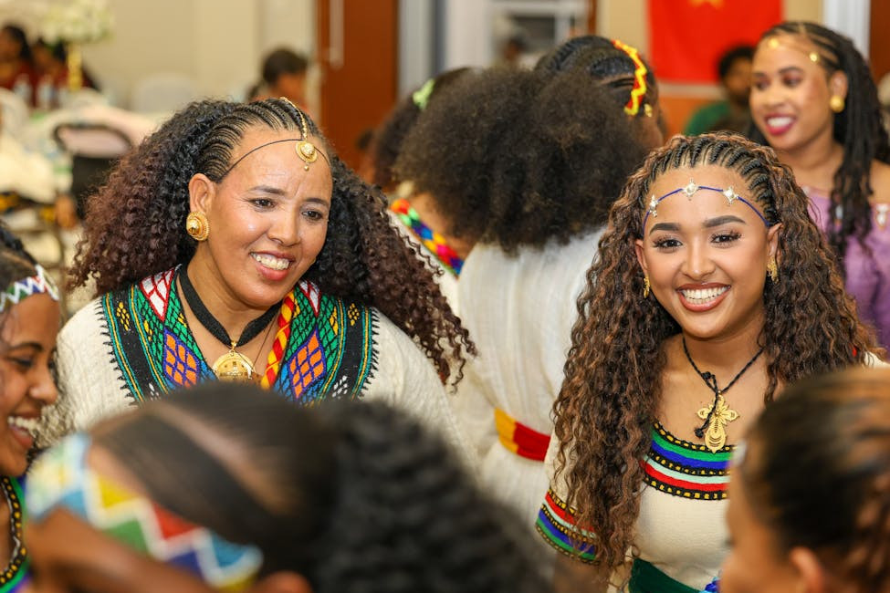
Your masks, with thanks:
[(890, 588), (890, 369), (786, 390), (749, 432), (738, 474), (780, 553), (810, 548), (837, 590)]

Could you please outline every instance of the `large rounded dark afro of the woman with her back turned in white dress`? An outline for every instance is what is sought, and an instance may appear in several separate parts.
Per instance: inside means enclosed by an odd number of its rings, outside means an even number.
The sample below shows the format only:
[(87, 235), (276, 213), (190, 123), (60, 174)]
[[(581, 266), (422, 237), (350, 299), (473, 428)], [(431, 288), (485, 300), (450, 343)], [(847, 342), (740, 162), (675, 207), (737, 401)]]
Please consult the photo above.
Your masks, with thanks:
[(512, 253), (605, 222), (649, 148), (638, 125), (592, 77), (492, 69), (436, 97), (396, 169), (447, 213), (450, 234)]

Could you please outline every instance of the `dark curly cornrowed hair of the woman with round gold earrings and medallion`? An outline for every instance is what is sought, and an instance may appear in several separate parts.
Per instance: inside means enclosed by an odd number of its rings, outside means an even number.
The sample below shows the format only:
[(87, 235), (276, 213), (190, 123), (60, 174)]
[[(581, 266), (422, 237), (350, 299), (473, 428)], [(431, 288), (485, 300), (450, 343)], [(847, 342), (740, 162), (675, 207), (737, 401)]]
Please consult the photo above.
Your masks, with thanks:
[(298, 131), (303, 120), (325, 143), (333, 180), (327, 239), (305, 277), (326, 294), (377, 307), (414, 338), (440, 377), (459, 380), (453, 365), (462, 367), (475, 347), (419, 248), (389, 223), (382, 192), (340, 161), (315, 123), (285, 99), (192, 103), (121, 159), (89, 198), (70, 286), (94, 276), (102, 294), (187, 263), (196, 246), (185, 232), (192, 176), (219, 182), (246, 130)]

